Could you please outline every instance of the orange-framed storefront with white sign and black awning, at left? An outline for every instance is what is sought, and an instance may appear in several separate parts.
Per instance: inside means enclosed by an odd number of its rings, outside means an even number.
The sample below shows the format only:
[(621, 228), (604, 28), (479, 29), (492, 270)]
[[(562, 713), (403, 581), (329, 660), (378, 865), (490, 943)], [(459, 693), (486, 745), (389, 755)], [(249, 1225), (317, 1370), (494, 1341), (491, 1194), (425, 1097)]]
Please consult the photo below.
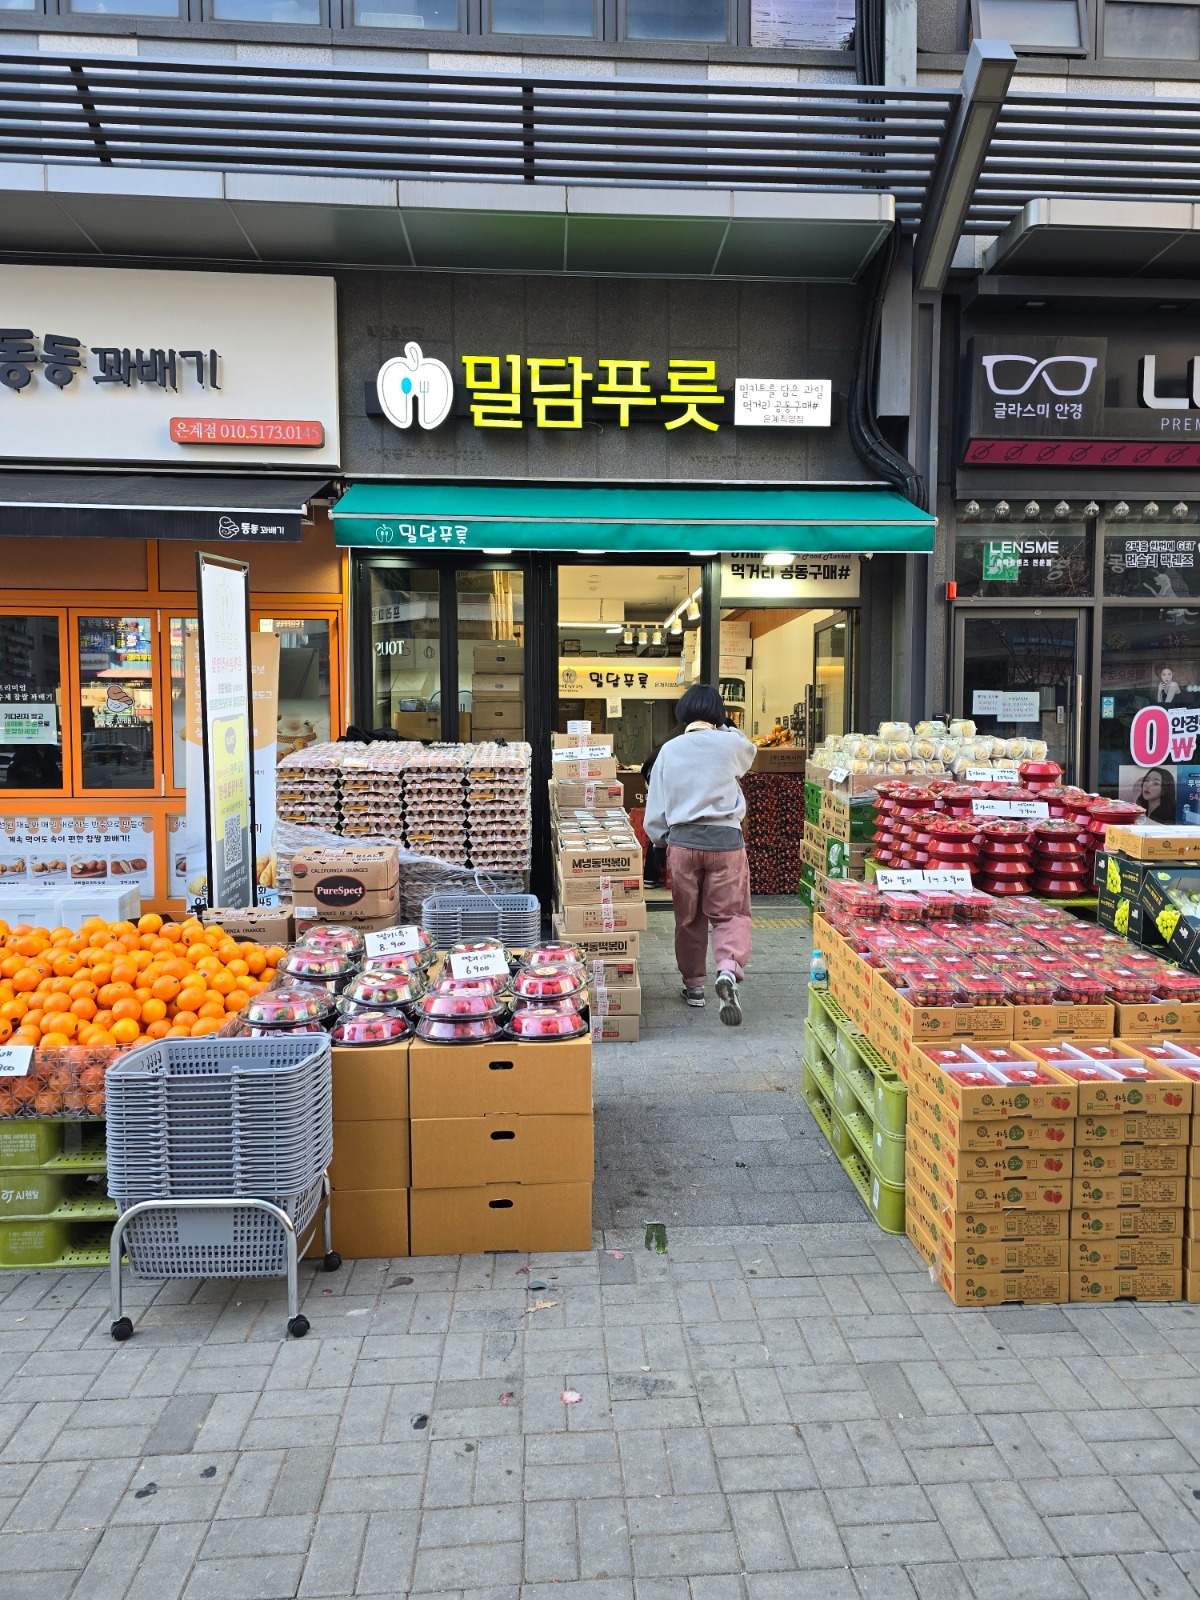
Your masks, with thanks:
[(0, 352), (0, 893), (136, 885), (179, 910), (197, 550), (250, 565), (261, 742), (342, 726), (334, 285), (0, 266), (0, 286), (22, 325)]

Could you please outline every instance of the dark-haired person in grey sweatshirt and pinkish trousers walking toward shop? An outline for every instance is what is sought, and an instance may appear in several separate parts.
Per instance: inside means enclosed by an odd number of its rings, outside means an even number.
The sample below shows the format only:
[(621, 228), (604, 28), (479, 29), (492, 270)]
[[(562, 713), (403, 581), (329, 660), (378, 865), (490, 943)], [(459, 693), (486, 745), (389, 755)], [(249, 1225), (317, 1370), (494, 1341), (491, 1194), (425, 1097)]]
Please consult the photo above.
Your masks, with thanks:
[(728, 720), (725, 701), (709, 683), (680, 698), (675, 722), (683, 731), (662, 746), (650, 773), (646, 837), (667, 846), (683, 1000), (704, 1005), (712, 928), (722, 1022), (738, 1027), (738, 986), (750, 958), (746, 798), (738, 779), (750, 770), (755, 746)]

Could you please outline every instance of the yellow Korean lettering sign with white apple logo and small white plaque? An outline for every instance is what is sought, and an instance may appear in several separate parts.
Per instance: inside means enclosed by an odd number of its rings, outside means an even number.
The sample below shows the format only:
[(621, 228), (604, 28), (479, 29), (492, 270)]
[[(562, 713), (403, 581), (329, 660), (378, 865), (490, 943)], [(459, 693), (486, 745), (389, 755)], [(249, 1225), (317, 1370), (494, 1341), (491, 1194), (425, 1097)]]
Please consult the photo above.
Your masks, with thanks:
[(722, 389), (715, 360), (674, 358), (654, 371), (648, 358), (582, 355), (462, 355), (458, 379), (445, 362), (405, 344), (366, 387), (370, 416), (398, 429), (440, 427), (451, 414), (474, 427), (582, 429), (654, 422), (667, 432), (699, 427), (829, 427), (832, 382), (808, 378), (738, 378)]

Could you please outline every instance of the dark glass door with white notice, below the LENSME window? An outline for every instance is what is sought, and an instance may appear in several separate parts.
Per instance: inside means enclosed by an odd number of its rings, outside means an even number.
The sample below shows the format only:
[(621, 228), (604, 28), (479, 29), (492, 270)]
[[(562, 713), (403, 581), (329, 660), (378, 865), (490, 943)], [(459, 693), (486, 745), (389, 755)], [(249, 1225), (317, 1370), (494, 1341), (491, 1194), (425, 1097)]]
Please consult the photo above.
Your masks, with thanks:
[(1067, 782), (1083, 782), (1082, 611), (955, 614), (955, 715), (1000, 739), (1045, 739)]

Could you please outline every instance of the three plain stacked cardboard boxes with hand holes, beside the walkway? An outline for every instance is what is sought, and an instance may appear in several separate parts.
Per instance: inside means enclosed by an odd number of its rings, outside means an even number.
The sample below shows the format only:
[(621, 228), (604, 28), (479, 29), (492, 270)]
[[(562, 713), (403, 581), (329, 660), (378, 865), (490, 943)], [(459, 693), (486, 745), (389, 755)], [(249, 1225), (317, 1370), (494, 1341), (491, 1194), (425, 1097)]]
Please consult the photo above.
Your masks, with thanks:
[(408, 1069), (411, 1254), (590, 1250), (590, 1038), (416, 1040)]

